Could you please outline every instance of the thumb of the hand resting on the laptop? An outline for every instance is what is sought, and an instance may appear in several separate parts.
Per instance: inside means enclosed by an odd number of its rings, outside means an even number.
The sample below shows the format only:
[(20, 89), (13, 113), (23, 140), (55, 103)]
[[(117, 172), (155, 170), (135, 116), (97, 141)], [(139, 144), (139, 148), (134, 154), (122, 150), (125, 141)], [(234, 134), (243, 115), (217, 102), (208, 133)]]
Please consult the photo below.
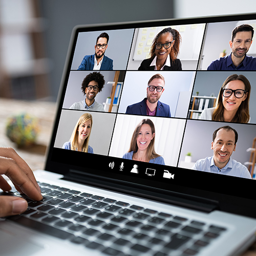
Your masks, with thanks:
[(11, 196), (0, 196), (0, 218), (21, 214), (28, 208), (25, 199)]

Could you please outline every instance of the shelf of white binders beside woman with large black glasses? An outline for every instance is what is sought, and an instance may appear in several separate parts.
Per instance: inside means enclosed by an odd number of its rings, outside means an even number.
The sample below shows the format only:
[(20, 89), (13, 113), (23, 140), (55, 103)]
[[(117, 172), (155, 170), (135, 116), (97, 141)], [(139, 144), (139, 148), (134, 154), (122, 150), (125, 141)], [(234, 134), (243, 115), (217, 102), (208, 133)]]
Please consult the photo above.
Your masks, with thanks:
[(193, 95), (191, 109), (189, 109), (190, 119), (198, 119), (204, 109), (215, 106), (217, 97)]

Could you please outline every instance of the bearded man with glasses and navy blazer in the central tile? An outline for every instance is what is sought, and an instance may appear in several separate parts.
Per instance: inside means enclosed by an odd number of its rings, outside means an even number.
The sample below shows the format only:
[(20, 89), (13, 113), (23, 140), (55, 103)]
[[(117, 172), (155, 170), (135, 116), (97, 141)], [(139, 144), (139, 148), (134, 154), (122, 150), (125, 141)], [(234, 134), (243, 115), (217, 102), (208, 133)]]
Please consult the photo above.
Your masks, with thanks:
[(159, 101), (164, 91), (164, 77), (156, 74), (147, 83), (146, 98), (127, 106), (125, 114), (170, 117), (170, 107)]

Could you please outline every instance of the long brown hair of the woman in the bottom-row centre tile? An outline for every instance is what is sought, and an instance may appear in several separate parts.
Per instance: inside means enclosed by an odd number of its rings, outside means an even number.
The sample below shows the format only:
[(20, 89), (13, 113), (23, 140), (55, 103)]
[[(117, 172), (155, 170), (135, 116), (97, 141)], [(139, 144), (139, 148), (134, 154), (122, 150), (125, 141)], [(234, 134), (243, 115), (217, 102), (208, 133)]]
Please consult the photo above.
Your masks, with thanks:
[[(150, 125), (151, 127), (151, 132), (152, 134), (155, 133), (155, 125), (154, 123), (151, 121), (151, 119), (142, 119), (138, 125), (136, 126), (134, 132), (133, 132), (133, 136), (132, 136), (132, 140), (131, 140), (131, 144), (130, 144), (130, 148), (129, 148), (129, 151), (128, 152), (137, 152), (138, 151), (138, 145), (137, 145), (137, 137), (139, 135), (139, 132), (140, 132), (140, 129), (141, 129), (141, 126), (143, 124), (148, 124)], [(148, 145), (147, 147), (147, 161), (150, 161), (151, 159), (154, 159), (154, 158), (157, 158), (157, 157), (160, 157), (160, 155), (158, 155), (156, 152), (155, 152), (155, 137), (151, 140), (150, 144)]]

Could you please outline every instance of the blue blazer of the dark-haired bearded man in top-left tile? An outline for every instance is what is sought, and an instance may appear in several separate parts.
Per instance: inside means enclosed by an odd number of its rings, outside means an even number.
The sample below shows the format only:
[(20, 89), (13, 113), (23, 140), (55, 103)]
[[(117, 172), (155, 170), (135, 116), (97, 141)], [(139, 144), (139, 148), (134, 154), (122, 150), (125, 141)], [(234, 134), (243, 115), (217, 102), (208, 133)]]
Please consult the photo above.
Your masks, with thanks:
[[(84, 56), (78, 70), (93, 70), (94, 55)], [(100, 70), (113, 70), (113, 60), (104, 55)]]

